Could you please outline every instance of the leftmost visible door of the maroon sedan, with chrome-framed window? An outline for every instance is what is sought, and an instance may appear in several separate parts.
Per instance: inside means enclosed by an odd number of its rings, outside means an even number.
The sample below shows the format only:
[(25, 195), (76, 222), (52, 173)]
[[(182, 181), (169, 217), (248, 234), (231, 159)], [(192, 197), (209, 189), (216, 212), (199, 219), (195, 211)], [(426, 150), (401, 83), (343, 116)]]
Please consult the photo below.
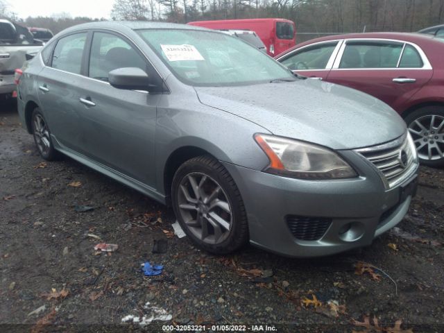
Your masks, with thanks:
[(302, 46), (278, 58), (278, 61), (297, 74), (323, 80), (333, 66), (341, 43), (341, 40), (332, 40)]

